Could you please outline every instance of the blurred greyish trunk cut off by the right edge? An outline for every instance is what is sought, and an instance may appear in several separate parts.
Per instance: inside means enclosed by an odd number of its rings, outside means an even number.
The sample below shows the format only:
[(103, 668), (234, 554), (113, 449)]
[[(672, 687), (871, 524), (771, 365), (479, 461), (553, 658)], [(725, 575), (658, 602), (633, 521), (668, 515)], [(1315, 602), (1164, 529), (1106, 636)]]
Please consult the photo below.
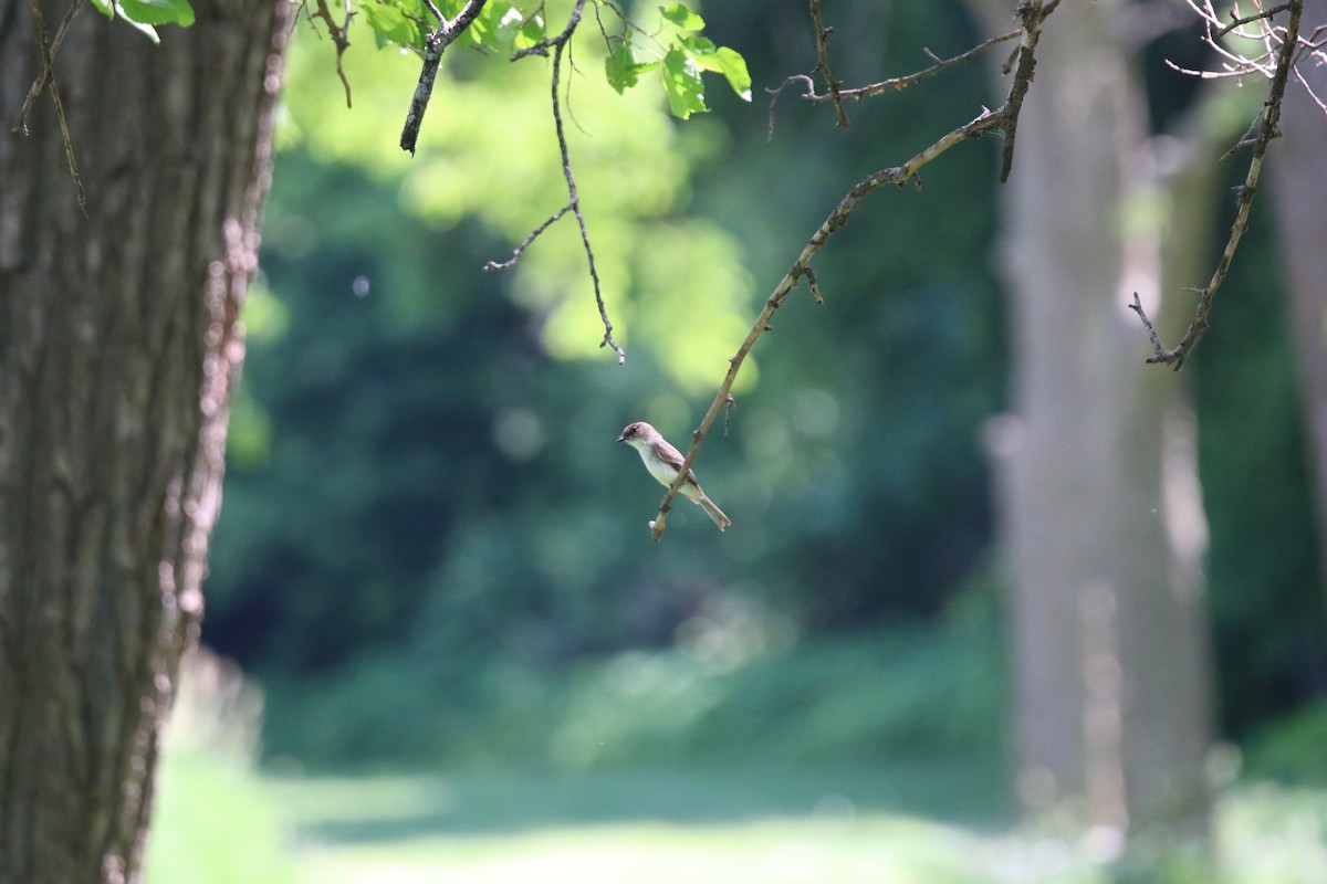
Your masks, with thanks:
[[(1327, 24), (1327, 0), (1306, 0), (1300, 33)], [(1299, 73), (1327, 95), (1327, 66), (1312, 58)], [(1327, 114), (1291, 77), (1281, 109), (1281, 138), (1269, 151), (1273, 193), (1286, 268), (1290, 333), (1299, 360), (1318, 516), (1318, 561), (1327, 586)]]

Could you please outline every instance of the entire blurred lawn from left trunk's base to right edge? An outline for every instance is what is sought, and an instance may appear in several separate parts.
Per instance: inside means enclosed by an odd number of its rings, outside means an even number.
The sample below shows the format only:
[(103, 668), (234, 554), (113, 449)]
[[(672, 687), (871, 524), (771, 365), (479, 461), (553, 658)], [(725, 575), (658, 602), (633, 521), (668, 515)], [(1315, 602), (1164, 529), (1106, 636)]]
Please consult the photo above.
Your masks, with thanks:
[[(150, 884), (1327, 884), (1327, 794), (1241, 787), (1193, 856), (1013, 830), (953, 765), (267, 777), (167, 759)], [(943, 820), (943, 822), (937, 822)]]

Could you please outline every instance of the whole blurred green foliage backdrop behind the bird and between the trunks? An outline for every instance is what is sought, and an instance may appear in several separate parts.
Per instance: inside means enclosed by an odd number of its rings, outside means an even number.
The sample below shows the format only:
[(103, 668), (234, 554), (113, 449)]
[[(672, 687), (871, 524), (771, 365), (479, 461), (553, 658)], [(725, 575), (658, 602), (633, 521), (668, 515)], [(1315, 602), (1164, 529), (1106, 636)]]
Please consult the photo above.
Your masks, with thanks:
[[(662, 91), (613, 93), (601, 41), (576, 44), (571, 154), (621, 367), (568, 219), (515, 269), (480, 269), (565, 203), (547, 64), (451, 52), (411, 160), (395, 142), (418, 62), (352, 34), (348, 110), (330, 44), (301, 28), (203, 630), (264, 685), (269, 759), (938, 755), (975, 771), (973, 807), (1002, 806), (1006, 577), (981, 445), (1009, 362), (995, 142), (874, 195), (817, 258), (827, 304), (799, 290), (778, 314), (697, 468), (730, 531), (682, 506), (652, 545), (661, 488), (613, 443), (640, 419), (686, 441), (848, 187), (991, 101), (961, 68), (837, 130), (786, 94), (770, 139), (762, 89), (815, 64), (804, 4), (714, 5), (707, 33), (746, 56), (756, 98), (715, 87), (686, 123)], [(848, 82), (975, 42), (955, 3), (857, 19), (835, 36)], [(1157, 119), (1192, 95), (1161, 56)], [(1185, 374), (1223, 734), (1263, 773), (1327, 782), (1324, 588), (1277, 277), (1263, 215)]]

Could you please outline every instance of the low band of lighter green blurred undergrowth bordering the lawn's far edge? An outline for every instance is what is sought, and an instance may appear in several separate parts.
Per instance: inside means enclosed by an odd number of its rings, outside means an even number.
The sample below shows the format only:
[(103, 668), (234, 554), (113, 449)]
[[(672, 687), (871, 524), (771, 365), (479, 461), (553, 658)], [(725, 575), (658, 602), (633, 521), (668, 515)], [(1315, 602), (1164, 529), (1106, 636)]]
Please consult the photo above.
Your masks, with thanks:
[(479, 648), (384, 651), (316, 691), (272, 681), (268, 749), (324, 767), (389, 757), (555, 770), (963, 759), (998, 779), (1006, 689), (989, 599), (937, 627), (805, 645), (790, 628), (754, 611), (711, 612), (673, 648), (553, 668)]

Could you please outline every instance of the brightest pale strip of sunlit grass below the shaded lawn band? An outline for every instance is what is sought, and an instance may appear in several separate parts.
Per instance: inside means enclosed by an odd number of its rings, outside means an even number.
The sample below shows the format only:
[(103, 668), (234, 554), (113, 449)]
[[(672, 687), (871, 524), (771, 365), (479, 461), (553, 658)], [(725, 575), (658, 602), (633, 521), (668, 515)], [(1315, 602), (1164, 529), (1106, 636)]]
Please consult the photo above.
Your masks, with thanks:
[(983, 880), (970, 867), (970, 847), (955, 830), (892, 816), (633, 822), (322, 846), (305, 854), (301, 881), (946, 884)]

